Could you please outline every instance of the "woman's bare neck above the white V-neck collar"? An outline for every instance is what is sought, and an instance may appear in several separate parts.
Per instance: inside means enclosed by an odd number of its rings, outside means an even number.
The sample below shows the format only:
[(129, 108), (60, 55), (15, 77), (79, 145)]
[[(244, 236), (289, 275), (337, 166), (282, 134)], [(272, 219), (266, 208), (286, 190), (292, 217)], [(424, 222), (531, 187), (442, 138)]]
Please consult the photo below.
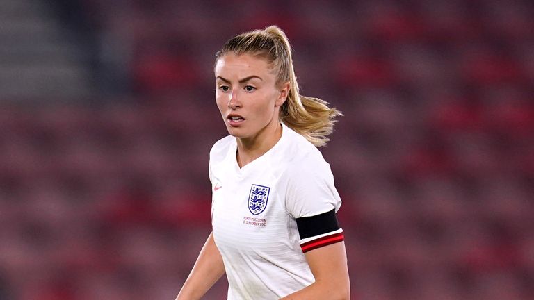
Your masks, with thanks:
[(273, 124), (265, 126), (257, 135), (237, 139), (237, 163), (244, 167), (264, 155), (275, 146), (282, 137), (282, 124), (275, 119)]

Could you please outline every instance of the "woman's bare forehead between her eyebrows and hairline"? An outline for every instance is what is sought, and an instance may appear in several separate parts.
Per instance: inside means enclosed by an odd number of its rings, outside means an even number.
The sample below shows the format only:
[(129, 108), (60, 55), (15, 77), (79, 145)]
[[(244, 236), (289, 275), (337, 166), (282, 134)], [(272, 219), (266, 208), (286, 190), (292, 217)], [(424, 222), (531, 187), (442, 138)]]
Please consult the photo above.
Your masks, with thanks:
[[(215, 65), (216, 76), (238, 76), (246, 77), (250, 75), (273, 76), (273, 67), (262, 56), (243, 53), (227, 53), (221, 56)], [(225, 76), (223, 76), (225, 77)]]

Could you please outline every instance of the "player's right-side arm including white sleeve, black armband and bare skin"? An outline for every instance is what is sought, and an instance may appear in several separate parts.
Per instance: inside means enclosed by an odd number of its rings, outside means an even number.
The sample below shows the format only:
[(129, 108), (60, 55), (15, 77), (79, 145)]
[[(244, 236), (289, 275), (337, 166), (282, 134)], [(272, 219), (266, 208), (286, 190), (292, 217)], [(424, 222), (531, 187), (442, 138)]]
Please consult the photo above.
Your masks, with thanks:
[(321, 298), (325, 295), (328, 299), (349, 299), (346, 249), (336, 216), (341, 198), (330, 165), (312, 157), (291, 171), (286, 210), (296, 220), (299, 244), (316, 281), (310, 289), (284, 299), (325, 299)]

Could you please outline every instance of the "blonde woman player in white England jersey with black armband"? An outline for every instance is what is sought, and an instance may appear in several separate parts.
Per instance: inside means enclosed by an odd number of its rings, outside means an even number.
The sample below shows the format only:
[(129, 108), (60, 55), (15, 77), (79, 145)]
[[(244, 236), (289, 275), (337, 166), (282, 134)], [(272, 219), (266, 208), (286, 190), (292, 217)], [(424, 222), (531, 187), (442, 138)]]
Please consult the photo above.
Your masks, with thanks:
[(216, 54), (216, 102), (229, 136), (210, 151), (213, 231), (177, 300), (226, 273), (228, 299), (349, 299), (341, 199), (316, 147), (339, 111), (302, 97), (277, 26)]

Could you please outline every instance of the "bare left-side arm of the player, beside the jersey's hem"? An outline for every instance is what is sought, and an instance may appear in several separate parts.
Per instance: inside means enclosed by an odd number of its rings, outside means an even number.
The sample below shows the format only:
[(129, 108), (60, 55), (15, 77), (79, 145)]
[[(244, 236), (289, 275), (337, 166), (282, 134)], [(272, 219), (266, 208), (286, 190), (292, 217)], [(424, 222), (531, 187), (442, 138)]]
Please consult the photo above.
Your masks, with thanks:
[(211, 233), (204, 247), (200, 250), (197, 261), (176, 300), (197, 300), (202, 298), (223, 274), (225, 274), (223, 257), (220, 256), (219, 249), (217, 249), (213, 241), (213, 233)]

